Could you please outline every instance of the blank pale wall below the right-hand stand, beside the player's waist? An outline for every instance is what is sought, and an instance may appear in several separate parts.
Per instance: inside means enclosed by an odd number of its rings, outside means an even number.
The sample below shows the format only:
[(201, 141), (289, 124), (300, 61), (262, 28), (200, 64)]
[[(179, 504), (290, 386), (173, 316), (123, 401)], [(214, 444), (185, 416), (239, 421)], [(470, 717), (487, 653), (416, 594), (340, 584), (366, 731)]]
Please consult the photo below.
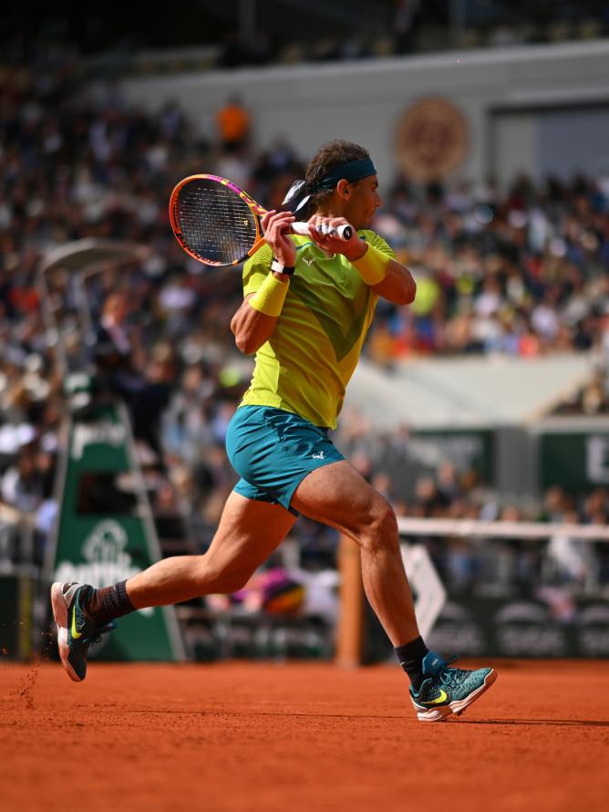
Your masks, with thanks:
[(362, 359), (346, 406), (381, 431), (522, 425), (547, 417), (593, 373), (588, 353), (415, 359), (390, 371)]

